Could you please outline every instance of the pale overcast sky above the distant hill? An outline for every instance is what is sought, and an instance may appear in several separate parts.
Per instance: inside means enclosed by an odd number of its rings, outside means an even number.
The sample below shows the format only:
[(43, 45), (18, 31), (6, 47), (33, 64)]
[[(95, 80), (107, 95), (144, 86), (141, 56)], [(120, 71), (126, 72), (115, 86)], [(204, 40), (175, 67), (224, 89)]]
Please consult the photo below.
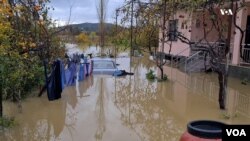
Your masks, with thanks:
[[(54, 10), (50, 12), (53, 20), (59, 21), (59, 23), (65, 23), (70, 17), (70, 23), (96, 23), (97, 17), (97, 5), (99, 0), (51, 0), (50, 5)], [(120, 7), (124, 0), (107, 0), (107, 22), (114, 22), (115, 9)]]

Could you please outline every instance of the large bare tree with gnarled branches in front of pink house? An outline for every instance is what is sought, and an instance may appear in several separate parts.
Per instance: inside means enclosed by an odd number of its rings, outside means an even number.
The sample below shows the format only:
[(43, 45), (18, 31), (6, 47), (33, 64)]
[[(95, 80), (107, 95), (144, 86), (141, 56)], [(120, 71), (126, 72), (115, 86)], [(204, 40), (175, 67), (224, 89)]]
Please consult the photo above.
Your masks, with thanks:
[[(229, 9), (233, 12), (225, 12), (228, 15), (221, 15), (220, 10), (229, 6)], [(241, 4), (244, 5), (244, 4)], [(209, 58), (209, 64), (217, 74), (219, 81), (219, 105), (220, 109), (226, 109), (226, 96), (227, 96), (227, 83), (229, 75), (229, 56), (230, 56), (230, 38), (232, 36), (232, 24), (236, 29), (240, 31), (240, 51), (242, 50), (242, 41), (245, 31), (238, 25), (236, 25), (237, 12), (242, 8), (238, 6), (238, 2), (234, 0), (230, 1), (208, 1), (204, 2), (199, 7), (202, 16), (197, 16), (202, 21), (203, 37), (198, 41), (191, 41), (184, 37), (182, 33), (178, 34), (178, 39), (191, 46), (193, 51), (203, 51), (206, 57)], [(217, 9), (217, 10), (216, 10)], [(197, 11), (194, 11), (197, 12)], [(197, 12), (198, 13), (198, 12)], [(225, 22), (226, 21), (226, 22)], [(209, 23), (209, 24), (208, 24)], [(214, 41), (211, 42), (209, 37), (214, 37)], [(205, 57), (205, 59), (206, 59)], [(242, 57), (242, 54), (241, 54)]]

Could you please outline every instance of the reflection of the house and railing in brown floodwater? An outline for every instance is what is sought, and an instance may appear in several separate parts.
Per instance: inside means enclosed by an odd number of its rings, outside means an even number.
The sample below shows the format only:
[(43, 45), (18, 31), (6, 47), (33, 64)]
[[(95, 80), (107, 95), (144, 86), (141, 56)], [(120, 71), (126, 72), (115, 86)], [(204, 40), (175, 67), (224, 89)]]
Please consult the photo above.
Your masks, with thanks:
[[(201, 95), (207, 100), (218, 104), (219, 86), (216, 74), (191, 74), (186, 75), (176, 69), (166, 67), (166, 72), (172, 74), (172, 79), (187, 87), (193, 94)], [(228, 95), (226, 97), (226, 116), (244, 116), (250, 118), (250, 93), (249, 86), (241, 84), (240, 80), (229, 78)]]

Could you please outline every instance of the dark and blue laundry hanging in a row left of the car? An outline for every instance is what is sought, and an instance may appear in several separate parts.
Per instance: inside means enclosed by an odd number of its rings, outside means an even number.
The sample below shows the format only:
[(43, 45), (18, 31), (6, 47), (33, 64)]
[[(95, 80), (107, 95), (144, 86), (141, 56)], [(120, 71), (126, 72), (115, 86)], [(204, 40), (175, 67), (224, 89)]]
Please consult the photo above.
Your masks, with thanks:
[[(47, 65), (45, 63), (46, 85), (43, 90), (47, 88), (48, 99), (51, 101), (61, 98), (62, 90), (66, 86), (75, 85), (77, 79), (78, 81), (84, 80), (85, 77), (92, 73), (92, 64), (91, 61), (85, 58), (84, 63), (80, 63), (80, 58), (74, 56), (74, 59), (68, 60), (68, 68), (65, 69), (63, 62), (58, 59), (52, 65), (50, 76), (47, 76)], [(39, 96), (41, 96), (41, 93)]]

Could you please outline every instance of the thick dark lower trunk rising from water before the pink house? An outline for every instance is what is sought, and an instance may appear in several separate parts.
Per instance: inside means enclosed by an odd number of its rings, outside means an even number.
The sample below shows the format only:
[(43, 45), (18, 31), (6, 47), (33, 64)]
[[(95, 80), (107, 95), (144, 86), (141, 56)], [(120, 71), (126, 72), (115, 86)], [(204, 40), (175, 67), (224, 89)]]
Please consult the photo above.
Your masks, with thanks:
[(227, 95), (227, 73), (218, 73), (219, 79), (219, 104), (220, 109), (224, 110), (226, 108), (226, 95)]

